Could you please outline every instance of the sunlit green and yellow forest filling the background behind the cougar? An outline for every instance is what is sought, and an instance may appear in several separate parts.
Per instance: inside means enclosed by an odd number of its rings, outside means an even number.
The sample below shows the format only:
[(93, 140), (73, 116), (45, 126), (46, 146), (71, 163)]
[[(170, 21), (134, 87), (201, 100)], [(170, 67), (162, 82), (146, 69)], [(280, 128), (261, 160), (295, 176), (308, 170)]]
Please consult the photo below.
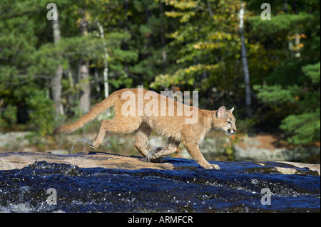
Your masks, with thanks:
[(266, 2), (1, 0), (0, 132), (49, 137), (143, 85), (235, 107), (240, 133), (320, 144), (320, 1)]

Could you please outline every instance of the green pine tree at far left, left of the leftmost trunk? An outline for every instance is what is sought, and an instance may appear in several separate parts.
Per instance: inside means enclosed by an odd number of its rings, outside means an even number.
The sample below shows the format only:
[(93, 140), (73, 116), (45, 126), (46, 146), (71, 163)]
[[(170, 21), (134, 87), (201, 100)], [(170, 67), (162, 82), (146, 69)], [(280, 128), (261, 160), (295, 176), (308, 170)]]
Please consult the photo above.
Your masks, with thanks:
[[(39, 126), (42, 135), (54, 126), (49, 88), (58, 65), (43, 68), (47, 59), (39, 58), (38, 52), (39, 46), (52, 40), (44, 35), (48, 22), (45, 1), (0, 2), (0, 126), (29, 121)], [(34, 73), (39, 68), (43, 73)], [(41, 125), (39, 118), (43, 118)]]

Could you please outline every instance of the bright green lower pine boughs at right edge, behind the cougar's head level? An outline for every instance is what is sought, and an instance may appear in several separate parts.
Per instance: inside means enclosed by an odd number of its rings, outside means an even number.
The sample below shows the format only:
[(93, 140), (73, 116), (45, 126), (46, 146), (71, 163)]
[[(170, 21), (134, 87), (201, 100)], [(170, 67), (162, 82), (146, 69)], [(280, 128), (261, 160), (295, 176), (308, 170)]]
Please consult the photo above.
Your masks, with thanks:
[[(258, 98), (265, 104), (287, 108), (292, 114), (285, 117), (280, 129), (289, 135), (292, 144), (309, 144), (320, 140), (320, 63), (302, 67), (310, 86), (256, 85)], [(310, 81), (309, 81), (310, 80)], [(319, 92), (314, 89), (319, 86)], [(289, 106), (290, 105), (290, 106)]]

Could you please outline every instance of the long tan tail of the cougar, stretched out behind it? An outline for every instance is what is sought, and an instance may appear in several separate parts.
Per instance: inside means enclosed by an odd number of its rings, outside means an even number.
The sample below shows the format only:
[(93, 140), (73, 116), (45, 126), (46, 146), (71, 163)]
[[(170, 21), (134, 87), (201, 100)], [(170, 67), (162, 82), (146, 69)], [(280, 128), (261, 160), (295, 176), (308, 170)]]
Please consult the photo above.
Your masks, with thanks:
[(61, 127), (57, 127), (56, 130), (54, 130), (54, 134), (59, 133), (71, 133), (75, 132), (79, 128), (83, 127), (83, 125), (86, 125), (88, 122), (91, 122), (91, 120), (94, 120), (98, 115), (101, 115), (102, 112), (107, 110), (109, 107), (114, 105), (114, 102), (116, 100), (116, 95), (111, 94), (103, 101), (99, 102), (91, 111), (89, 111), (86, 115), (81, 117), (76, 122), (73, 122), (70, 125), (63, 125)]

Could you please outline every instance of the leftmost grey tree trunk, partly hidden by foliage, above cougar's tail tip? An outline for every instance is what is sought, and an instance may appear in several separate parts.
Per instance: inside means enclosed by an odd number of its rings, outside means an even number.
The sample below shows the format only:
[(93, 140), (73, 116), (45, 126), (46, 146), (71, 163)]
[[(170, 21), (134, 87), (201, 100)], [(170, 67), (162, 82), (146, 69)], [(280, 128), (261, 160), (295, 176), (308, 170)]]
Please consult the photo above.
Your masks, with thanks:
[[(58, 14), (58, 12), (57, 12)], [(60, 41), (60, 29), (59, 29), (59, 22), (58, 22), (58, 15), (57, 19), (52, 21), (52, 28), (53, 28), (53, 33), (54, 33), (54, 45), (56, 46), (59, 41)], [(54, 75), (54, 78), (51, 80), (51, 92), (52, 92), (52, 97), (54, 100), (54, 105), (55, 105), (55, 120), (59, 120), (60, 115), (63, 115), (63, 105), (61, 105), (61, 79), (63, 75), (63, 66), (59, 65), (56, 74)]]

